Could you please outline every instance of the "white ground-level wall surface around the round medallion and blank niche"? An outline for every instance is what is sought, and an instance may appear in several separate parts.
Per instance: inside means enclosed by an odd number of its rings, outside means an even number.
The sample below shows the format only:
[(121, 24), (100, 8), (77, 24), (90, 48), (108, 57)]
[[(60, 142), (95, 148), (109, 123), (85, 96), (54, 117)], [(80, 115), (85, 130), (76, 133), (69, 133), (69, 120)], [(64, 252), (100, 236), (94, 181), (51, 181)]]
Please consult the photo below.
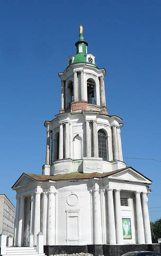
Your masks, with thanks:
[[(71, 193), (76, 193), (78, 196), (78, 201), (75, 205), (71, 206), (68, 204), (67, 200)], [(91, 198), (90, 192), (87, 188), (86, 183), (80, 184), (80, 182), (70, 182), (66, 183), (65, 186), (62, 186), (58, 189), (58, 227), (59, 232), (57, 234), (57, 242), (61, 245), (66, 244), (91, 244)], [(79, 214), (79, 242), (78, 241), (67, 241), (67, 233), (69, 233), (69, 239), (73, 238), (70, 236), (71, 228), (74, 229), (74, 226), (68, 226), (67, 222), (67, 212), (75, 210)], [(71, 223), (70, 223), (71, 224)], [(76, 228), (76, 227), (75, 227)], [(75, 231), (72, 231), (75, 234)], [(76, 237), (77, 238), (77, 237)], [(78, 242), (78, 243), (77, 243)]]

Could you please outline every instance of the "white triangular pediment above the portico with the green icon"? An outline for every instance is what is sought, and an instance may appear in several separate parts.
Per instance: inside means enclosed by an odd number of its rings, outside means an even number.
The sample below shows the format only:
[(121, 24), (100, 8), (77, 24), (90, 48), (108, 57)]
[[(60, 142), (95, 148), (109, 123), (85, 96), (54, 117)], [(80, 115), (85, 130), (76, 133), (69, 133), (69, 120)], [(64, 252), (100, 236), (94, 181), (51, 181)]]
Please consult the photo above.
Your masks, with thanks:
[(116, 174), (111, 174), (108, 176), (109, 179), (116, 179), (121, 181), (129, 182), (141, 182), (151, 184), (151, 180), (145, 177), (143, 174), (137, 172), (135, 169), (129, 167), (125, 170), (119, 171)]

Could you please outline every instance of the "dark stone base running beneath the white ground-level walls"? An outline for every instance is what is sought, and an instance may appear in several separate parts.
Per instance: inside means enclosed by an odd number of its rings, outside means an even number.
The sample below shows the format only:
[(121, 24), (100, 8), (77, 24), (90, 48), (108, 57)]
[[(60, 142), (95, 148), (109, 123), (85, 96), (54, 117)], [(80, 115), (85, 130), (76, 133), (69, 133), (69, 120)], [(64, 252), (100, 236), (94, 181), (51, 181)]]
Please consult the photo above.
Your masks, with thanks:
[(94, 256), (121, 256), (126, 252), (154, 251), (161, 253), (160, 244), (149, 245), (85, 245), (85, 246), (44, 246), (46, 256), (55, 254), (92, 253)]

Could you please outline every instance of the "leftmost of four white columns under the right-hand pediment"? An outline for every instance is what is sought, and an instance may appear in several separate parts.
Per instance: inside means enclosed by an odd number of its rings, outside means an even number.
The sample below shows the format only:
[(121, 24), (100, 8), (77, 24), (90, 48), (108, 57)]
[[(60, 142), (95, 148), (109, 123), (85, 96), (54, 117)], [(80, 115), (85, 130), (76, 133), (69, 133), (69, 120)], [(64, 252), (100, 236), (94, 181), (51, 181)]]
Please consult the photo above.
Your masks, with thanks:
[(107, 189), (108, 239), (110, 245), (116, 245), (113, 189)]

